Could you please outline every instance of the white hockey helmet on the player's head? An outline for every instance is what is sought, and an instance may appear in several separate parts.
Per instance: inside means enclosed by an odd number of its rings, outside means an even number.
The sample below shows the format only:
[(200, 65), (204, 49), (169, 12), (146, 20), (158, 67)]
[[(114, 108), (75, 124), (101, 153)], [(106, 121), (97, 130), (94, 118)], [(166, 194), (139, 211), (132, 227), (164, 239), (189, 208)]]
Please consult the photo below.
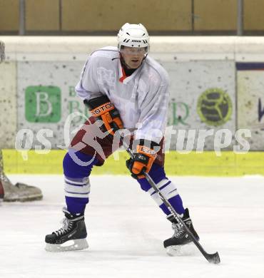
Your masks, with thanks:
[(149, 36), (147, 29), (142, 24), (124, 24), (117, 34), (118, 51), (121, 46), (146, 47), (149, 51)]

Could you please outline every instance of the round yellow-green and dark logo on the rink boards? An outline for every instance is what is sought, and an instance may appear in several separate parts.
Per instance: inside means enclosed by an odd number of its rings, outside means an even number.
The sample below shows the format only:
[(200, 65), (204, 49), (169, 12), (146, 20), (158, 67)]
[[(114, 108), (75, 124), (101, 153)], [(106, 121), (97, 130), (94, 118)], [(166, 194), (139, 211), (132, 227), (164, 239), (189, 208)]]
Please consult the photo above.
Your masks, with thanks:
[(223, 125), (232, 114), (232, 101), (220, 88), (210, 88), (198, 98), (197, 112), (208, 125)]

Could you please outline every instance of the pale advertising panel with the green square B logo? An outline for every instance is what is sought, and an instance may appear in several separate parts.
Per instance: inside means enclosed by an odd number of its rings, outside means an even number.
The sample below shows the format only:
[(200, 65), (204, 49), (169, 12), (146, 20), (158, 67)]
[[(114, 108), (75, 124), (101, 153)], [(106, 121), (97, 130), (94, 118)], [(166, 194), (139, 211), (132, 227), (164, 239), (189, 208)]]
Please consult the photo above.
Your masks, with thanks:
[[(43, 138), (52, 148), (67, 146), (88, 115), (74, 87), (78, 83), (83, 62), (18, 62), (18, 131), (29, 148), (43, 149)], [(69, 114), (71, 118), (66, 133), (64, 127)], [(32, 132), (31, 132), (31, 131)], [(22, 141), (22, 140), (21, 140)], [(60, 147), (59, 147), (60, 146)], [(25, 147), (25, 146), (24, 146)], [(49, 143), (46, 145), (49, 148)]]

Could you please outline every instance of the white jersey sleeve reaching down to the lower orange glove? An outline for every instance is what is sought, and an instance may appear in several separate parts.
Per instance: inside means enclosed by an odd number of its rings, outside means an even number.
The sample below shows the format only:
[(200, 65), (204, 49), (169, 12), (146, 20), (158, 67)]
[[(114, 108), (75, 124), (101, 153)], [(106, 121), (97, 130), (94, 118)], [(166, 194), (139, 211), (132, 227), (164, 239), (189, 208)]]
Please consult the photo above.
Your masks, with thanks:
[(160, 86), (150, 86), (150, 91), (141, 103), (141, 115), (135, 132), (136, 140), (151, 140), (160, 143), (165, 133), (168, 112), (168, 77)]

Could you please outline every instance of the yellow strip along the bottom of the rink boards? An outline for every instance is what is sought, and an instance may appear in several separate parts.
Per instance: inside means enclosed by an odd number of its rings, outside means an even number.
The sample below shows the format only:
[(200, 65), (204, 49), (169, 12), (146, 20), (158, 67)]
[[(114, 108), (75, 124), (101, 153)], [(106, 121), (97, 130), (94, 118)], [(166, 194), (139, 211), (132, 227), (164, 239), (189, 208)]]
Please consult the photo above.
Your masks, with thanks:
[[(62, 160), (65, 150), (51, 150), (37, 154), (34, 150), (21, 154), (16, 150), (3, 150), (6, 173), (62, 174)], [(24, 155), (24, 156), (22, 156)], [(93, 168), (93, 174), (128, 175), (126, 152), (111, 155), (103, 167)], [(235, 154), (231, 151), (216, 156), (214, 152), (181, 154), (171, 151), (166, 154), (167, 175), (236, 176), (264, 175), (264, 155), (261, 152)]]

